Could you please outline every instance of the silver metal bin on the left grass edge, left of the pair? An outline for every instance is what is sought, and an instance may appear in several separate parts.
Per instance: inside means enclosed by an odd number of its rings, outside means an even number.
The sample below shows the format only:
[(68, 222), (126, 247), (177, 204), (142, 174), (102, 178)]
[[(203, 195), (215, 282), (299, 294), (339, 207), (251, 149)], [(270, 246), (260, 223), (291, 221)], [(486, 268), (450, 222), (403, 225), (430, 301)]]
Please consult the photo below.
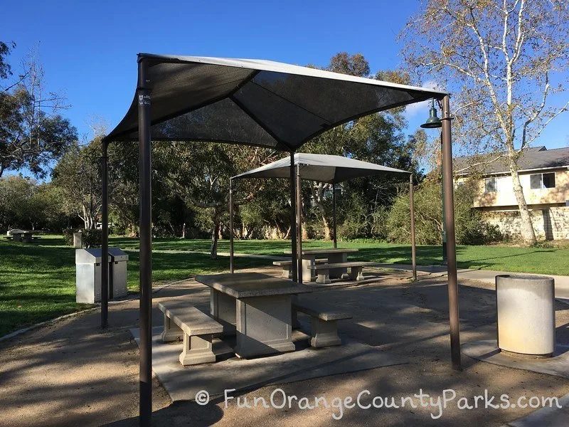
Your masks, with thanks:
[[(107, 262), (110, 256), (107, 255)], [(75, 301), (101, 301), (101, 250), (75, 249)]]

